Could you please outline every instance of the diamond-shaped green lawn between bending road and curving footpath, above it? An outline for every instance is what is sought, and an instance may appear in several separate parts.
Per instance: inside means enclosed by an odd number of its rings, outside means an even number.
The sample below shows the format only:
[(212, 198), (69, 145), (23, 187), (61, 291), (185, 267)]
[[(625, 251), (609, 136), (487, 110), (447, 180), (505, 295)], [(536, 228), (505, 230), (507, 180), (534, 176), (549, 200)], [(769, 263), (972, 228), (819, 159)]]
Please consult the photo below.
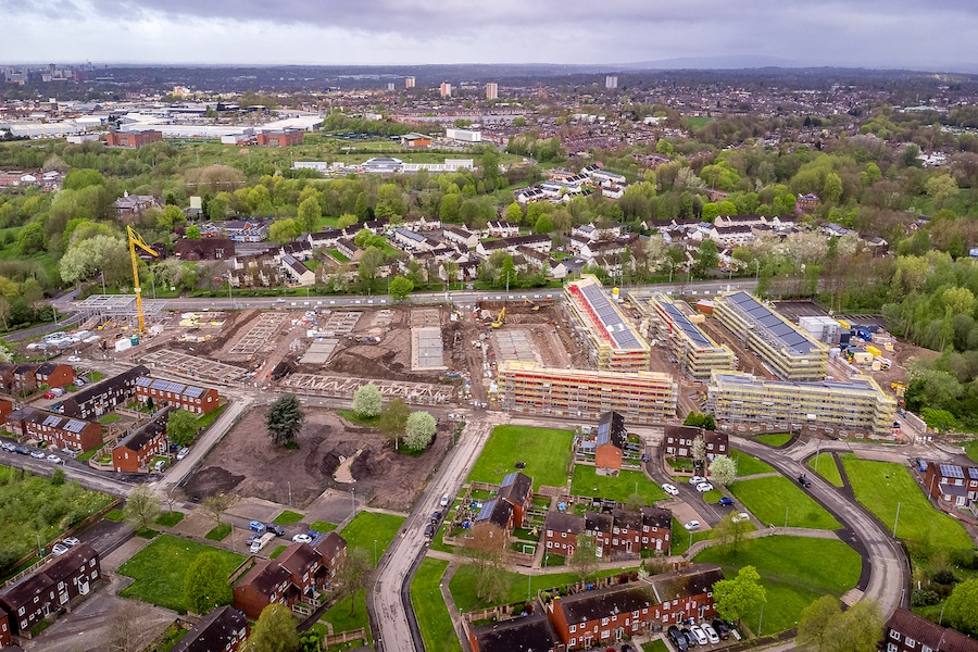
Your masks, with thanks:
[(729, 489), (762, 524), (783, 526), (787, 515), (788, 527), (832, 530), (842, 527), (822, 505), (786, 477), (738, 480)]

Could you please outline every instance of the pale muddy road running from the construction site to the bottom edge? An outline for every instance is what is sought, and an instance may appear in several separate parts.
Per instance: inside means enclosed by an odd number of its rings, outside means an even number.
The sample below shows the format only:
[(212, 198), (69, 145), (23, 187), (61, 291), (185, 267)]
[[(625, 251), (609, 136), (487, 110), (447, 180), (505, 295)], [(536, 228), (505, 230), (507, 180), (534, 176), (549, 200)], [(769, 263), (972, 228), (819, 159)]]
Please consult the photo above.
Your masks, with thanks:
[(449, 451), (441, 467), (415, 504), (414, 511), (404, 521), (401, 536), (394, 538), (393, 543), (380, 559), (374, 587), (367, 593), (367, 611), (371, 614), (371, 625), (378, 650), (425, 649), (424, 643), (418, 640), (413, 610), (409, 620), (410, 605), (402, 600), (401, 589), (410, 581), (409, 575), (415, 560), (427, 550), (425, 525), (431, 514), (441, 509), (439, 506), (441, 496), (457, 494), (486, 440), (489, 439), (492, 428), (505, 423), (506, 417), (505, 414), (490, 412), (476, 422), (466, 423), (459, 442)]

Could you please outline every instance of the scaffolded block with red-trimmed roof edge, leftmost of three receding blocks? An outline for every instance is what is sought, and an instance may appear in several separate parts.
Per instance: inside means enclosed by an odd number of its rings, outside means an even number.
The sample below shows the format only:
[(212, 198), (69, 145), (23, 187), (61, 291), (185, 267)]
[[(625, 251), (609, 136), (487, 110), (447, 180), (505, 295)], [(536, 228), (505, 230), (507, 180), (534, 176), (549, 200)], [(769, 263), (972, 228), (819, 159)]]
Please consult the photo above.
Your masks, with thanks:
[(564, 286), (575, 331), (587, 342), (591, 364), (609, 372), (648, 371), (648, 342), (601, 289), (593, 276)]

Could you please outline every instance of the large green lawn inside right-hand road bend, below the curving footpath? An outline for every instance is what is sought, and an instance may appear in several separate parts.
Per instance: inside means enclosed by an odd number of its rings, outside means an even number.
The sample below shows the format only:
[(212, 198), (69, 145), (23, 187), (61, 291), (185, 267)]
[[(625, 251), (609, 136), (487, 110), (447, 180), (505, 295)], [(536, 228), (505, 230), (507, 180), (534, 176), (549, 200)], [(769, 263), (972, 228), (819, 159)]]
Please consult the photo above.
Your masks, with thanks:
[[(719, 564), (727, 578), (736, 577), (743, 566), (755, 566), (767, 589), (762, 634), (794, 627), (802, 610), (818, 598), (840, 597), (860, 579), (860, 555), (842, 541), (805, 537), (764, 537), (736, 554), (725, 555), (719, 548), (707, 548), (697, 562)], [(744, 616), (744, 623), (757, 631), (758, 610)]]

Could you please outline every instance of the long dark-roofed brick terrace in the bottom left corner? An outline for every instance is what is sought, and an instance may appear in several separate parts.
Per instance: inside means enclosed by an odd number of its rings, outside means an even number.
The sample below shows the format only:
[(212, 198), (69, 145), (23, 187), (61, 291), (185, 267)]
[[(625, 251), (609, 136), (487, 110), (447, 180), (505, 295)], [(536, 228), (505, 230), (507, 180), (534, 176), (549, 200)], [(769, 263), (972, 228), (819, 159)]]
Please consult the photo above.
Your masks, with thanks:
[(101, 575), (99, 553), (87, 543), (71, 548), (0, 594), (0, 610), (10, 619), (11, 632), (29, 632), (48, 614), (91, 592)]

